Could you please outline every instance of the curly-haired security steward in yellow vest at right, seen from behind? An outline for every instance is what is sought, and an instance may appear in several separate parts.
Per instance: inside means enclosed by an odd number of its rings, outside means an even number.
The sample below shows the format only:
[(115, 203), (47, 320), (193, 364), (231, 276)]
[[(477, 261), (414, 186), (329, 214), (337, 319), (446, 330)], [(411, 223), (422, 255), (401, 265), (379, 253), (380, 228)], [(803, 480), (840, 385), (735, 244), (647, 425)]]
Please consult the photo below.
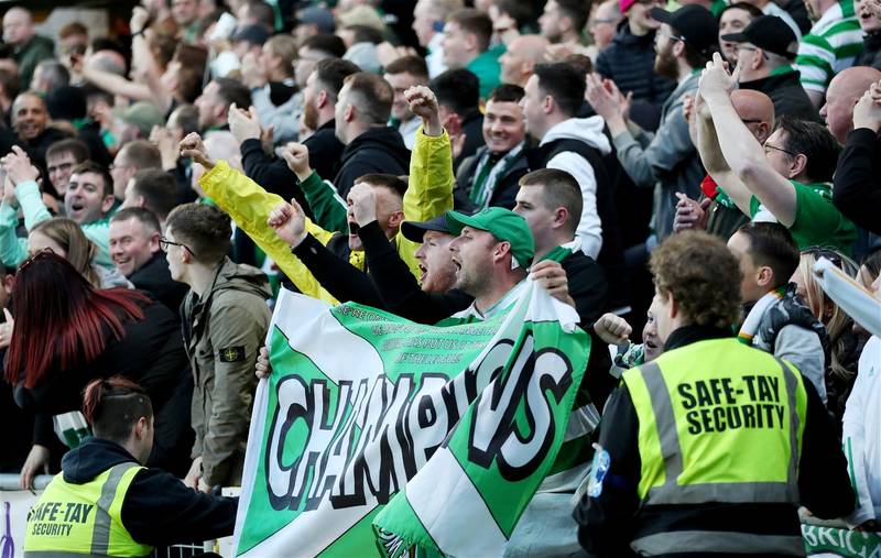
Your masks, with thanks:
[(737, 341), (740, 271), (718, 239), (651, 256), (664, 353), (624, 372), (575, 511), (594, 556), (805, 556), (797, 508), (847, 515), (847, 461), (811, 382)]

